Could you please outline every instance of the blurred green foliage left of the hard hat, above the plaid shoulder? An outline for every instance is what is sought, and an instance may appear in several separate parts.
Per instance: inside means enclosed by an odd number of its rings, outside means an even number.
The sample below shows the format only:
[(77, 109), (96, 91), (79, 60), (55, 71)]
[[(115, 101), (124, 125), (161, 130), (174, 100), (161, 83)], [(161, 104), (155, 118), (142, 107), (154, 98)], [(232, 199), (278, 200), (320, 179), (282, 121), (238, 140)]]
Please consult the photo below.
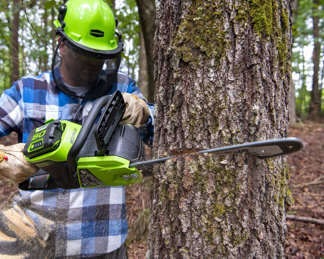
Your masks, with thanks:
[[(63, 0), (19, 1), (19, 77), (38, 75), (50, 69), (52, 54), (52, 21)], [(0, 1), (0, 92), (10, 85), (11, 74), (11, 31), (13, 0)]]

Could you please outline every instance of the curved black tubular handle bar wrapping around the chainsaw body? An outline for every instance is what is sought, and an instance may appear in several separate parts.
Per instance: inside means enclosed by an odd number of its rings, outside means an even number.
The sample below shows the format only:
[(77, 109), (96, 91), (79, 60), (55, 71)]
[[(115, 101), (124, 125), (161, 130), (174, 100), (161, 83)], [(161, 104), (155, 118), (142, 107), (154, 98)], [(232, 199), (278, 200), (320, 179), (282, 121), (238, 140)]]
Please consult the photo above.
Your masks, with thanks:
[(77, 170), (76, 170), (76, 157), (81, 151), (83, 145), (87, 141), (87, 138), (89, 136), (89, 133), (91, 129), (93, 128), (93, 125), (100, 114), (100, 111), (103, 107), (108, 104), (108, 102), (112, 101), (113, 96), (120, 95), (121, 92), (117, 90), (113, 95), (111, 96), (102, 96), (98, 99), (98, 101), (93, 105), (91, 108), (89, 114), (87, 115), (87, 118), (82, 125), (80, 132), (75, 139), (75, 142), (71, 146), (68, 154), (67, 154), (67, 166), (68, 171), (71, 179), (77, 179)]

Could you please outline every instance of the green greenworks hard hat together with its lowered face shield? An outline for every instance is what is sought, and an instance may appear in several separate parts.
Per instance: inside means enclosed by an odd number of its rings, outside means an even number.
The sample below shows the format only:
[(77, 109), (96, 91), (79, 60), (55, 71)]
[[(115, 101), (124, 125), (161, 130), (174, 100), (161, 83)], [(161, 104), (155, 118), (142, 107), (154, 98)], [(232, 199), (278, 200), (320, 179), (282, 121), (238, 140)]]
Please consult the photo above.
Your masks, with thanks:
[[(60, 5), (58, 11), (54, 25), (60, 39), (52, 60), (52, 76), (56, 86), (63, 93), (76, 98), (94, 99), (106, 95), (117, 78), (123, 51), (121, 34), (115, 32), (117, 18), (102, 0), (69, 0), (65, 5)], [(118, 36), (117, 40), (115, 35)], [(69, 71), (74, 85), (67, 85), (61, 74), (64, 62), (59, 48), (62, 42), (71, 50), (70, 59), (74, 59), (74, 62), (87, 63), (89, 66), (93, 66), (92, 62), (96, 66), (102, 64), (101, 71), (87, 78)], [(71, 86), (83, 86), (87, 91), (78, 92)]]

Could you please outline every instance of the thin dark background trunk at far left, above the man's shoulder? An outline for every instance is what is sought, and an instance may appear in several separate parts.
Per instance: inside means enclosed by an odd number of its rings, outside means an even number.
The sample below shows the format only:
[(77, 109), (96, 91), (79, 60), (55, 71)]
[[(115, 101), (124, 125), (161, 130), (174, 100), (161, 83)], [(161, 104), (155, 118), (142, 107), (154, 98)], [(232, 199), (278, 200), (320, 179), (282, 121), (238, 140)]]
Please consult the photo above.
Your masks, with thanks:
[(18, 42), (18, 30), (19, 30), (19, 0), (13, 1), (13, 20), (11, 27), (11, 60), (12, 69), (10, 84), (19, 79), (19, 42)]

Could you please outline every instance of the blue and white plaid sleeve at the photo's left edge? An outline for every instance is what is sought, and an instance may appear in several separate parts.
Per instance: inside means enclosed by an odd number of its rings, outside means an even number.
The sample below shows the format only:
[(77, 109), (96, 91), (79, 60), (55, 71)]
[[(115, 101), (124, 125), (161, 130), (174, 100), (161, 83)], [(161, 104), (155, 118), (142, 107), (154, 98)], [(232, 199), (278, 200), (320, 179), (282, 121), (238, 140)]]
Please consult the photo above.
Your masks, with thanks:
[(0, 97), (0, 137), (9, 135), (12, 131), (19, 133), (23, 120), (21, 92), (18, 82)]

